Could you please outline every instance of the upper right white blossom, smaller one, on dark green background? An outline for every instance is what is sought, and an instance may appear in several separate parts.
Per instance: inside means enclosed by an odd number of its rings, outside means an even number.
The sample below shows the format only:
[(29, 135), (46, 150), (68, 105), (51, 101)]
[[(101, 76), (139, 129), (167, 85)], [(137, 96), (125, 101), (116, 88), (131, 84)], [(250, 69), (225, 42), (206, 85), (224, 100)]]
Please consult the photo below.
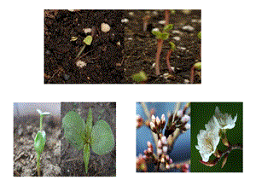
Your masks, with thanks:
[(232, 119), (231, 115), (228, 113), (221, 113), (219, 108), (215, 108), (214, 116), (218, 120), (218, 125), (220, 129), (232, 129), (236, 125), (237, 114), (234, 119)]

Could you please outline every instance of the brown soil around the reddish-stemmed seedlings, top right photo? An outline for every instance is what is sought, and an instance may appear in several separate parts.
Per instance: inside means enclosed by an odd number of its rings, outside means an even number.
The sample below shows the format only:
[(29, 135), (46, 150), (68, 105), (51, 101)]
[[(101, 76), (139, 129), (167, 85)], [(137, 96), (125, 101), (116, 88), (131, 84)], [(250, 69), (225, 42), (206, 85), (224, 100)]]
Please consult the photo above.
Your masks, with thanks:
[[(201, 10), (192, 10), (184, 14), (176, 10), (171, 15), (170, 23), (174, 25), (171, 36), (163, 44), (160, 57), (160, 77), (155, 75), (153, 64), (155, 62), (157, 40), (151, 34), (152, 28), (163, 28), (158, 21), (165, 20), (163, 10), (127, 10), (125, 18), (129, 22), (125, 26), (125, 69), (127, 82), (132, 83), (131, 75), (144, 71), (148, 75), (148, 84), (183, 84), (189, 80), (190, 69), (197, 61), (201, 61), (201, 40), (197, 37), (201, 32)], [(133, 13), (131, 15), (131, 13)], [(148, 31), (143, 32), (143, 17), (152, 15)], [(183, 26), (192, 26), (193, 30), (183, 29)], [(175, 37), (175, 38), (174, 38)], [(179, 40), (175, 40), (180, 38)], [(175, 67), (174, 73), (169, 73), (166, 66), (166, 53), (170, 49), (169, 41), (176, 44), (177, 49), (172, 53), (170, 61)], [(189, 83), (187, 81), (187, 83)], [(201, 74), (197, 73), (195, 84), (201, 83)]]

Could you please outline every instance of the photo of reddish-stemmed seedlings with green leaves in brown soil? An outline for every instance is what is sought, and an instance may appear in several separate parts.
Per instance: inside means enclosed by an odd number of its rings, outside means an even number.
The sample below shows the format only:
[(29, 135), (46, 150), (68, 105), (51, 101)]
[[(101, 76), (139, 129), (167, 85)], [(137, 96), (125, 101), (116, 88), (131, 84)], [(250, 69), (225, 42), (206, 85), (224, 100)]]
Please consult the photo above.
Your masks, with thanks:
[[(201, 69), (194, 67), (201, 62), (201, 10), (131, 9), (124, 15), (129, 20), (125, 23), (125, 74), (131, 83), (201, 84)], [(134, 79), (142, 72), (146, 80)]]

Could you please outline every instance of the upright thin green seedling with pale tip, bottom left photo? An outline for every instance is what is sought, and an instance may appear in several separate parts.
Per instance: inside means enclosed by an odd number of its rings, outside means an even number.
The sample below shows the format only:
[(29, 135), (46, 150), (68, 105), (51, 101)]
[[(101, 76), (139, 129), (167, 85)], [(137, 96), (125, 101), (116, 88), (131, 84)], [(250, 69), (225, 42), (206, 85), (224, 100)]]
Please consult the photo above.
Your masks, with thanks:
[(45, 115), (49, 115), (49, 112), (42, 112), (40, 109), (37, 109), (38, 113), (40, 114), (40, 130), (37, 133), (37, 136), (35, 137), (34, 141), (34, 147), (37, 152), (37, 171), (38, 176), (40, 177), (40, 156), (42, 152), (44, 151), (44, 145), (46, 141), (45, 132), (43, 130), (43, 119)]

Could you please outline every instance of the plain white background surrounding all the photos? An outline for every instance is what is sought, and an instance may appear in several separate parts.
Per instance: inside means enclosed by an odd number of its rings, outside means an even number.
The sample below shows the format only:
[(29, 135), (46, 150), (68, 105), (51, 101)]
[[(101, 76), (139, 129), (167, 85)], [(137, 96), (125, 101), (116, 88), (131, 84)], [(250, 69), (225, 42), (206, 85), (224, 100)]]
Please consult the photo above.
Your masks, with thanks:
[[(255, 189), (253, 1), (1, 3), (3, 191)], [(44, 84), (44, 9), (202, 9), (202, 84)], [(117, 102), (117, 177), (13, 177), (13, 102)], [(243, 173), (136, 173), (136, 102), (243, 102)]]

